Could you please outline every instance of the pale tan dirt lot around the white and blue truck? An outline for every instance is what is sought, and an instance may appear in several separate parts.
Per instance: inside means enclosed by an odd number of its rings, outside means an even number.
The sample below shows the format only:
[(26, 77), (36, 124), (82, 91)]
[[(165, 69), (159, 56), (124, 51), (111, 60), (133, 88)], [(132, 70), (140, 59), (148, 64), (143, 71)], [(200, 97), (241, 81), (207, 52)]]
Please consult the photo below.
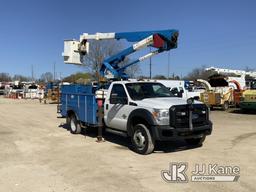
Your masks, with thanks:
[[(108, 135), (104, 143), (72, 135), (56, 105), (0, 98), (0, 191), (255, 191), (256, 115), (211, 112), (213, 134), (202, 147), (162, 143), (151, 155)], [(240, 167), (238, 182), (167, 183), (171, 162)], [(189, 173), (188, 173), (188, 176)]]

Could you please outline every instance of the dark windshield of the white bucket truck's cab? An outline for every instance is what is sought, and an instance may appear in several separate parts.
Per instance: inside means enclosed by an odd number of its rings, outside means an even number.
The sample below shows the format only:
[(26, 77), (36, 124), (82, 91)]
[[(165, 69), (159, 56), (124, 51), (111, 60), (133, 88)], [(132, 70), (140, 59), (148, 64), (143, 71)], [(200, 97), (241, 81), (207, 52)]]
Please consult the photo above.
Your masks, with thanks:
[(142, 100), (154, 97), (174, 97), (161, 83), (127, 83), (127, 91), (133, 100)]

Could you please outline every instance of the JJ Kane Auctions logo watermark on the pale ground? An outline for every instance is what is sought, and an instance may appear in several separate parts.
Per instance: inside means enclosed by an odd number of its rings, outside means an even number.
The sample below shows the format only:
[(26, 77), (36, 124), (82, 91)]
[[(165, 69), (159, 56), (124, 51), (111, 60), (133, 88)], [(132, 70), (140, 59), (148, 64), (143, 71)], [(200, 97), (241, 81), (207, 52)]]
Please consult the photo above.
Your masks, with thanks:
[[(168, 183), (187, 183), (188, 163), (170, 163), (168, 170), (162, 170), (161, 176)], [(218, 164), (195, 164), (190, 172), (192, 182), (235, 182), (240, 177), (238, 166)]]

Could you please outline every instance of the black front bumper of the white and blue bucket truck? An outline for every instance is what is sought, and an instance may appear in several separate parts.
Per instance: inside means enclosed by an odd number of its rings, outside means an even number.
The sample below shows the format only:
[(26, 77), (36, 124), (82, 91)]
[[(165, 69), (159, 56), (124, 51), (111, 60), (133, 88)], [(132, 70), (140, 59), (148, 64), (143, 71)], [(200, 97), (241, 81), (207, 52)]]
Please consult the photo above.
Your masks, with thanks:
[(202, 137), (212, 133), (212, 122), (207, 125), (190, 128), (174, 128), (168, 125), (156, 125), (152, 129), (155, 140), (172, 141), (188, 138)]

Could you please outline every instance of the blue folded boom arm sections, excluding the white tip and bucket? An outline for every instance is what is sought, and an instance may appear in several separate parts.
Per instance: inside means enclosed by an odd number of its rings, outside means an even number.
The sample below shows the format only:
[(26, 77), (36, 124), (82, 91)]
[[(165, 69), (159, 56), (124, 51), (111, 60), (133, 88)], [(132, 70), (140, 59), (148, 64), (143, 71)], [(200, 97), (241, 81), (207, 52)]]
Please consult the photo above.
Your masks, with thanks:
[[(115, 78), (127, 79), (128, 75), (124, 72), (127, 67), (163, 51), (169, 51), (170, 49), (176, 48), (177, 38), (177, 30), (116, 33), (115, 39), (117, 40), (126, 39), (128, 42), (139, 42), (118, 54), (105, 59), (100, 69), (100, 75), (105, 76), (106, 70), (108, 70)], [(156, 48), (156, 50), (126, 64), (123, 67), (118, 66), (118, 64), (121, 63), (128, 55), (136, 52), (144, 46), (151, 46)]]

